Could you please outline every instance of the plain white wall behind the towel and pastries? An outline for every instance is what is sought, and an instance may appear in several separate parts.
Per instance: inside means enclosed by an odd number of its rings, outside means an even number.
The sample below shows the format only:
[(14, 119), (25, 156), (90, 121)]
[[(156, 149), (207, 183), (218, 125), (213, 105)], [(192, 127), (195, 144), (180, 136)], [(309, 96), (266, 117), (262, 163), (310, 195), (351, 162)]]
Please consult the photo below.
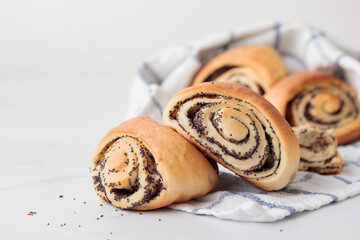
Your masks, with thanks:
[(246, 23), (310, 23), (360, 48), (358, 0), (0, 1), (0, 77), (133, 74), (151, 53)]

